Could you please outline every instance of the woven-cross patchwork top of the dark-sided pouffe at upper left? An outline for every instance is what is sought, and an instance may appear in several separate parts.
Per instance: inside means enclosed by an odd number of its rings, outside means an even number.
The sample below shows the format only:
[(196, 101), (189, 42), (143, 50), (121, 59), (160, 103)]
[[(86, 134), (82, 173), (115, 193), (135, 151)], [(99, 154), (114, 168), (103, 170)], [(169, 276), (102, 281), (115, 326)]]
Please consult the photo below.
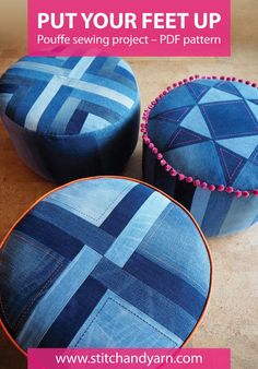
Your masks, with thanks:
[(120, 58), (24, 57), (0, 81), (2, 111), (40, 134), (83, 134), (122, 124), (137, 104), (133, 72)]

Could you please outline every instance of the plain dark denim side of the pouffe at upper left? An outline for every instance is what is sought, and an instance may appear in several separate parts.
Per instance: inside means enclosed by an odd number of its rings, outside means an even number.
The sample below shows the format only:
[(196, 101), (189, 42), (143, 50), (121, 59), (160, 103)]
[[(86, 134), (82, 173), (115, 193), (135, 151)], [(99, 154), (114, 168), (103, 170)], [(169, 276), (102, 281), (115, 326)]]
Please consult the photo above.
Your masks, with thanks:
[(46, 179), (63, 183), (122, 170), (138, 140), (139, 102), (124, 124), (81, 135), (40, 135), (15, 124), (7, 116), (2, 120), (25, 164)]

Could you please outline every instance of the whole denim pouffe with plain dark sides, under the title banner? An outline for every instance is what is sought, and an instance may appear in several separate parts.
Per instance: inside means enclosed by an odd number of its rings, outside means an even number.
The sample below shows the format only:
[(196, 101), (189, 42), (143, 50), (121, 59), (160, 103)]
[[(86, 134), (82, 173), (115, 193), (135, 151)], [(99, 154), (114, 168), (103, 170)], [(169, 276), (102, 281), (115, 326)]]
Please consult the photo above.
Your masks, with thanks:
[(138, 140), (138, 85), (119, 58), (22, 58), (0, 111), (21, 158), (56, 182), (120, 172)]

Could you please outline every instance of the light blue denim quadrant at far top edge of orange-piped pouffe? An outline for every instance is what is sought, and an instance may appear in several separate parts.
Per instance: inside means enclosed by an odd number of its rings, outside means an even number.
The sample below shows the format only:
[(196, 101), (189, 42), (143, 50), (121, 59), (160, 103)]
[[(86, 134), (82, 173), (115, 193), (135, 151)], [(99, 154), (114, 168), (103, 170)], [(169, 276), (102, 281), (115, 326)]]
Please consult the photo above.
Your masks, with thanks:
[(50, 194), (44, 201), (66, 209), (95, 226), (101, 226), (117, 204), (137, 184), (137, 182), (124, 179), (93, 179), (70, 184)]

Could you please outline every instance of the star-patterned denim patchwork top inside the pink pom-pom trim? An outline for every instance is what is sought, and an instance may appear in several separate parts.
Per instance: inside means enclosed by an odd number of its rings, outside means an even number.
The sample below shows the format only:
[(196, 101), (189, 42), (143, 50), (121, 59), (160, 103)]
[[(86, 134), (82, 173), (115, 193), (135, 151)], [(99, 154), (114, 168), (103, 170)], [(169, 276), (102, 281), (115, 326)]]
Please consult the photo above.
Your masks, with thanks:
[(148, 134), (185, 177), (241, 191), (258, 188), (255, 86), (215, 78), (176, 86), (151, 110)]

